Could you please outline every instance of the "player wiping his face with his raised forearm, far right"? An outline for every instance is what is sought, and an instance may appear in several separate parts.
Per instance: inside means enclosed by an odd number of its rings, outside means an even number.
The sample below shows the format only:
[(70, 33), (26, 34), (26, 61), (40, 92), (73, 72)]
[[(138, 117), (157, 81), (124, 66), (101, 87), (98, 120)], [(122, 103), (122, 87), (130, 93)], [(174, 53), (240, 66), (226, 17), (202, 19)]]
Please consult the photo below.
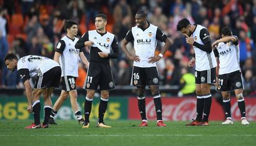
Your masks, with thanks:
[(219, 73), (217, 91), (220, 91), (223, 97), (223, 105), (226, 121), (222, 124), (233, 124), (231, 118), (230, 92), (234, 91), (238, 107), (241, 113), (241, 124), (249, 124), (245, 117), (245, 102), (242, 92), (244, 84), (239, 64), (239, 46), (237, 36), (233, 36), (228, 26), (221, 29), (221, 39), (212, 44), (216, 57), (218, 57)]

